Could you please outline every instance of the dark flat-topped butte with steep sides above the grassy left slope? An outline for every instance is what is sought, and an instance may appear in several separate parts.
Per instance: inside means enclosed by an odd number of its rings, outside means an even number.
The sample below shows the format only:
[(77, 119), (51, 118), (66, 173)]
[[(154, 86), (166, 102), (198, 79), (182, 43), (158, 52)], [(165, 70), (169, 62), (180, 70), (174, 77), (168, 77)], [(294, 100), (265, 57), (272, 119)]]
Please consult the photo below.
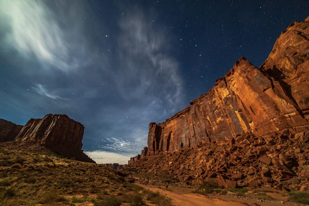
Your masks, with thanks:
[[(8, 124), (0, 121), (0, 125), (2, 128), (2, 125)], [(19, 132), (6, 135), (3, 139), (36, 141), (65, 157), (94, 162), (82, 150), (84, 126), (65, 114), (47, 114), (42, 119), (30, 119), (25, 126), (20, 126), (18, 129)]]

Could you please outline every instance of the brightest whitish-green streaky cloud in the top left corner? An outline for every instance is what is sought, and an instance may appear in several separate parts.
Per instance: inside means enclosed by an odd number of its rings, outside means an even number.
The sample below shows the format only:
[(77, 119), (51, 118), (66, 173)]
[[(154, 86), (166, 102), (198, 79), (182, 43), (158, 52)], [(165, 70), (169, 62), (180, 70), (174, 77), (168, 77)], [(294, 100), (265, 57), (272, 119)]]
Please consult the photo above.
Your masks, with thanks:
[(0, 3), (1, 18), (10, 32), (6, 41), (25, 58), (34, 55), (40, 62), (61, 70), (69, 68), (68, 42), (55, 14), (43, 1), (9, 0)]

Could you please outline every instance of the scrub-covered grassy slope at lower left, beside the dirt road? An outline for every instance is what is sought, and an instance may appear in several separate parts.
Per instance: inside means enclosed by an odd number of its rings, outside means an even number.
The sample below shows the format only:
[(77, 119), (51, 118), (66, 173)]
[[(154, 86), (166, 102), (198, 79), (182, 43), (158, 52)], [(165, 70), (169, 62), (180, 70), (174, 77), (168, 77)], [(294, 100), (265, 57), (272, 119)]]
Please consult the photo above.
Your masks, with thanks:
[(0, 143), (0, 205), (171, 205), (121, 175), (63, 158), (36, 142)]

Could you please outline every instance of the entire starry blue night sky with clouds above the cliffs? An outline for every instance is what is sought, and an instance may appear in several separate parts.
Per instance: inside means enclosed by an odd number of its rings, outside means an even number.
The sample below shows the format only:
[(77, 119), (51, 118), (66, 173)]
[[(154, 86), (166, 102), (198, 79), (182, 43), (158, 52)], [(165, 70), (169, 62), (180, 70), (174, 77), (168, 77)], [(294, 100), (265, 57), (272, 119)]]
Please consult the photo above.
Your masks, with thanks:
[[(248, 1), (249, 2), (249, 1)], [(0, 118), (67, 114), (98, 163), (127, 163), (239, 57), (259, 67), (308, 1), (0, 1)], [(252, 1), (253, 2), (253, 1)]]

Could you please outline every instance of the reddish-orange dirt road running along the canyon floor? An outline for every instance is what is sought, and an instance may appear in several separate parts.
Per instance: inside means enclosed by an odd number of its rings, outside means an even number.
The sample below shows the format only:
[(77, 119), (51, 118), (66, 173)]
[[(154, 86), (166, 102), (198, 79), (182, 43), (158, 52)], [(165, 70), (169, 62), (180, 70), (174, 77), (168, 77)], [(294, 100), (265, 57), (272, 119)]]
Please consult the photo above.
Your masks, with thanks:
[(199, 194), (193, 194), (189, 191), (168, 191), (165, 189), (159, 189), (156, 186), (150, 186), (150, 185), (142, 185), (140, 186), (149, 189), (153, 192), (159, 192), (163, 195), (166, 195), (167, 197), (170, 197), (172, 199), (172, 202), (176, 206), (212, 206), (212, 205), (218, 205), (218, 206), (249, 206), (249, 205), (281, 205), (281, 204), (273, 204), (273, 203), (266, 203), (266, 202), (258, 202), (258, 201), (252, 201), (252, 200), (241, 200), (238, 198), (217, 198), (216, 196), (211, 195), (212, 197), (206, 197), (204, 195)]

